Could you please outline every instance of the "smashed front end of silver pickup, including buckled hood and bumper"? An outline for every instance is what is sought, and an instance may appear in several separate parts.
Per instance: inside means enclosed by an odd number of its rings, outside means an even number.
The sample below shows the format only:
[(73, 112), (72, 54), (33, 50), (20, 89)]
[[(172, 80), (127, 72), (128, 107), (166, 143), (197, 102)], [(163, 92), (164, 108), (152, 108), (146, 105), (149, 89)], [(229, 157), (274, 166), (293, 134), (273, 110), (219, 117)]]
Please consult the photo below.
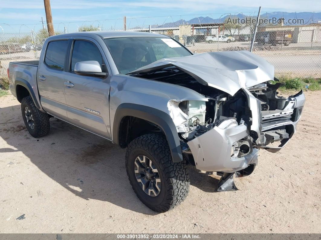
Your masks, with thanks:
[(173, 99), (167, 107), (185, 158), (198, 170), (218, 172), (219, 190), (226, 191), (236, 189), (233, 173), (253, 172), (259, 149), (277, 152), (295, 133), (304, 94), (278, 96), (282, 84), (272, 84), (278, 81), (273, 74), (265, 60), (237, 51), (165, 59), (130, 75), (204, 96), (206, 101)]

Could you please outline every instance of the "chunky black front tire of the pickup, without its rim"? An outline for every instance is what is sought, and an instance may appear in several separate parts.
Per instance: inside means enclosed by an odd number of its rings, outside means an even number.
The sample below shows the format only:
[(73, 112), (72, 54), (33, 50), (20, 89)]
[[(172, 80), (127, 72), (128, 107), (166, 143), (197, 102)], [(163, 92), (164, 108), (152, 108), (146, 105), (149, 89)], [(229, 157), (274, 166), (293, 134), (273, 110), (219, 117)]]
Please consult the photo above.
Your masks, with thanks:
[[(135, 177), (134, 161), (139, 155), (147, 156), (158, 169), (161, 189), (156, 197), (146, 194)], [(137, 197), (153, 211), (169, 211), (183, 202), (188, 194), (190, 181), (186, 163), (173, 162), (166, 137), (161, 134), (146, 134), (128, 145), (126, 170)]]

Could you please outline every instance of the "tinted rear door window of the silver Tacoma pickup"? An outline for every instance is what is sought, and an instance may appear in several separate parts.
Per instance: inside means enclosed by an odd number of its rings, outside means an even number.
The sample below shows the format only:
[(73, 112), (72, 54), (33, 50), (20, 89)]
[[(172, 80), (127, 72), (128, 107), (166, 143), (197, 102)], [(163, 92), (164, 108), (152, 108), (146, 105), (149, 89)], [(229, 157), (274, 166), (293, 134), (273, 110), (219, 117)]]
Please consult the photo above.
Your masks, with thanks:
[(59, 71), (64, 70), (67, 46), (67, 40), (52, 41), (48, 43), (45, 63), (49, 68)]

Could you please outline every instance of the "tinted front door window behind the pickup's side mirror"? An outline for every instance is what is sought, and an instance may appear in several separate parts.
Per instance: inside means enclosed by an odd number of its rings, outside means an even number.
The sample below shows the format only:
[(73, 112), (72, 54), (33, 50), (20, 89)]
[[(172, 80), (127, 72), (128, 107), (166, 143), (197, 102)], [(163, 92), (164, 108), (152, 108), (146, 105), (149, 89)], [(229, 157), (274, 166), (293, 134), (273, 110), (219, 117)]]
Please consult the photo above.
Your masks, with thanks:
[(97, 61), (102, 68), (102, 56), (97, 46), (88, 41), (75, 40), (71, 55), (71, 71), (74, 71), (77, 62), (82, 61)]

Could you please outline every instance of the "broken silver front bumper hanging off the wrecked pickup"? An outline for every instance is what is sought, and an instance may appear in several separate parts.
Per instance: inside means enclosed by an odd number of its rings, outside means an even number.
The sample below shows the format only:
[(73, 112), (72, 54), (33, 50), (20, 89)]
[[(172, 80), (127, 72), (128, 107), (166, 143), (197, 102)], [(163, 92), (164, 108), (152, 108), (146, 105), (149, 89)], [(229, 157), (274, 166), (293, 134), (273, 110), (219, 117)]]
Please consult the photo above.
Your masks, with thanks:
[[(231, 153), (233, 145), (240, 140), (246, 139), (249, 136), (249, 130), (244, 124), (233, 125), (230, 124), (231, 119), (226, 119), (222, 121), (223, 124), (215, 126), (201, 136), (187, 142), (193, 154), (196, 169), (236, 172), (247, 168), (250, 164), (256, 165), (260, 148), (273, 153), (282, 149), (295, 133), (295, 128), (305, 103), (305, 96), (301, 91), (289, 97), (289, 100), (294, 102), (291, 107), (293, 109), (291, 120), (276, 120), (267, 123), (258, 122), (260, 126), (257, 126), (257, 129), (260, 129), (259, 135), (264, 135), (265, 131), (285, 128), (286, 132), (289, 133), (289, 138), (282, 139), (279, 146), (251, 145), (251, 151), (248, 154), (233, 157)], [(257, 111), (257, 106), (255, 106), (255, 111)], [(255, 111), (252, 111), (252, 115)]]

